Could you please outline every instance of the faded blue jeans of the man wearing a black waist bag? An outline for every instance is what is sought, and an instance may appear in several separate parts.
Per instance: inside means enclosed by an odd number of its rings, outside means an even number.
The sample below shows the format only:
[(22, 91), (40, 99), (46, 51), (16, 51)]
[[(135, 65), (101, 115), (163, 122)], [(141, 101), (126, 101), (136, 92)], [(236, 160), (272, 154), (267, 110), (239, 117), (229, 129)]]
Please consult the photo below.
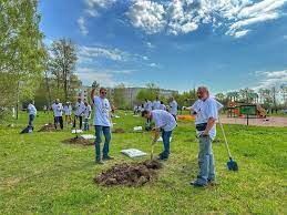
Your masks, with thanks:
[(198, 183), (206, 184), (208, 180), (215, 180), (214, 156), (209, 136), (199, 136), (198, 165)]

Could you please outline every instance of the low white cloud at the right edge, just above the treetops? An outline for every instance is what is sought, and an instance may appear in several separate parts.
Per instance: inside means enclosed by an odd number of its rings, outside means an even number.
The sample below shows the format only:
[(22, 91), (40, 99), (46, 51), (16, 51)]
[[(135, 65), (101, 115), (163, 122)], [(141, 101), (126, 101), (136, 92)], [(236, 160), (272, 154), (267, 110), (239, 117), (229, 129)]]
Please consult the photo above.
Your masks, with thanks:
[(257, 71), (254, 73), (259, 78), (259, 83), (254, 88), (256, 90), (260, 88), (269, 89), (271, 86), (280, 86), (287, 83), (287, 70), (281, 71)]

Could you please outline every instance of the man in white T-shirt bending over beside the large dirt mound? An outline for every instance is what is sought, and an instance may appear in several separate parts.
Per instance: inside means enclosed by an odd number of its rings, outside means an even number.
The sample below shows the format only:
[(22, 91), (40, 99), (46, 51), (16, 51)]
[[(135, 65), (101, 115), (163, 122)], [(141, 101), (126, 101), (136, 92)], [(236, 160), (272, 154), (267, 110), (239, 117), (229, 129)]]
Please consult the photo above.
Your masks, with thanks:
[(162, 130), (164, 151), (160, 154), (158, 160), (166, 161), (170, 156), (172, 132), (176, 127), (176, 121), (174, 116), (163, 110), (153, 110), (151, 112), (145, 110), (142, 115), (146, 119), (154, 120), (155, 127), (153, 130), (156, 132)]

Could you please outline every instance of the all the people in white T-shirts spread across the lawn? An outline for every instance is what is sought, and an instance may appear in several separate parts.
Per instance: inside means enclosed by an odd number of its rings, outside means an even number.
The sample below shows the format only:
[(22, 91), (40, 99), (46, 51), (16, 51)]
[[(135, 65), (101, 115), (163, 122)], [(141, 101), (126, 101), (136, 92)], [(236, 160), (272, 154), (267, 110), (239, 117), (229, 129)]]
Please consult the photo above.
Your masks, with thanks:
[[(223, 108), (223, 105), (209, 96), (209, 92), (206, 86), (199, 86), (197, 89), (197, 96), (198, 100), (192, 106), (184, 106), (183, 110), (188, 110), (195, 115), (196, 134), (199, 140), (199, 171), (197, 178), (191, 184), (193, 186), (205, 186), (207, 184), (215, 184), (215, 167), (212, 141), (216, 136), (216, 120), (218, 119), (218, 111)], [(95, 163), (103, 164), (104, 161), (113, 160), (113, 157), (109, 154), (111, 142), (112, 109), (109, 100), (106, 99), (106, 89), (101, 88), (100, 95), (95, 95), (95, 89), (93, 89), (91, 92), (91, 100), (94, 106), (93, 125), (95, 129)], [(154, 121), (155, 126), (153, 127), (153, 131), (155, 131), (157, 137), (160, 132), (162, 132), (164, 151), (160, 153), (158, 160), (166, 161), (168, 160), (171, 153), (170, 140), (174, 129), (177, 125), (177, 103), (172, 98), (170, 101), (168, 110), (163, 109), (164, 104), (162, 104), (163, 103), (160, 102), (158, 98), (156, 98), (154, 102), (145, 100), (144, 109), (141, 112), (142, 116), (146, 117), (148, 122)], [(63, 110), (65, 115), (68, 115), (66, 120), (71, 120), (69, 115), (71, 116), (72, 108), (70, 104), (66, 104), (65, 106), (63, 108), (59, 100), (55, 100), (52, 105), (55, 116), (55, 124), (59, 122), (61, 129), (63, 127)], [(30, 105), (30, 113), (33, 114), (33, 112), (34, 110), (32, 105)], [(91, 115), (91, 106), (86, 102), (83, 103), (81, 99), (79, 99), (74, 106), (74, 127), (78, 120), (81, 127), (83, 115), (86, 122)], [(29, 119), (32, 121), (33, 117), (31, 116)], [(102, 135), (104, 135), (104, 144), (103, 149), (101, 150)]]

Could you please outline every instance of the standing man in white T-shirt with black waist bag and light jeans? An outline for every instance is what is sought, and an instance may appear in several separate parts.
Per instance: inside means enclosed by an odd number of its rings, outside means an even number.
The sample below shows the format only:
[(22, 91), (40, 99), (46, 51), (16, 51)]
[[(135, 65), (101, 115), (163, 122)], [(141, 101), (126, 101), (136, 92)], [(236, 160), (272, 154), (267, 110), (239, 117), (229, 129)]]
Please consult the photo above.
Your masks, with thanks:
[(218, 110), (223, 105), (209, 96), (209, 91), (206, 86), (197, 89), (198, 101), (191, 108), (196, 115), (195, 125), (196, 133), (199, 140), (198, 166), (199, 173), (197, 178), (191, 184), (194, 186), (205, 186), (208, 183), (215, 184), (215, 167), (212, 141), (216, 136), (216, 120), (218, 119)]

